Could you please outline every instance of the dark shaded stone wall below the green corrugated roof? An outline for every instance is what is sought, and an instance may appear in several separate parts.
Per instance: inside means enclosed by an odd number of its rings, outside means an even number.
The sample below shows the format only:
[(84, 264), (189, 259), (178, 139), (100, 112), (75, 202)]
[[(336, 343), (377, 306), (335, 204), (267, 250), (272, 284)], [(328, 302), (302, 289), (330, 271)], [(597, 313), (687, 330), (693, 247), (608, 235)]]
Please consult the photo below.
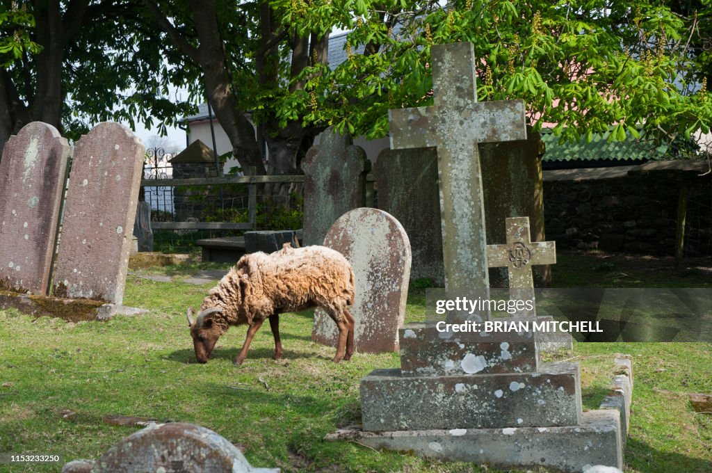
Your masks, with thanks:
[(557, 249), (674, 255), (680, 190), (689, 189), (686, 256), (712, 254), (712, 175), (706, 161), (544, 174), (547, 239)]

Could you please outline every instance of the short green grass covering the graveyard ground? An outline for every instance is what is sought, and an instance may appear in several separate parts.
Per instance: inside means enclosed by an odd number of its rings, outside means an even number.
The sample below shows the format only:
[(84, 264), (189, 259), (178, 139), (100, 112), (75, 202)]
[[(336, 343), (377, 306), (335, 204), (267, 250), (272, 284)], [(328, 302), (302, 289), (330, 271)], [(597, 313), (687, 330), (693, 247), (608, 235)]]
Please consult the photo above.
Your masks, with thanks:
[[(691, 287), (710, 282), (705, 270), (674, 274), (629, 269), (617, 260), (613, 268), (592, 269), (601, 257), (560, 255), (554, 284)], [(148, 272), (184, 276), (226, 267), (194, 264)], [(624, 282), (614, 282), (617, 272), (628, 275)], [(138, 429), (108, 425), (103, 418), (134, 415), (203, 425), (244, 449), (254, 466), (286, 472), (496, 471), (375, 452), (355, 442), (323, 441), (337, 427), (360, 422), (360, 378), (375, 368), (396, 367), (399, 360), (393, 353), (357, 353), (350, 362), (333, 364), (334, 349), (310, 341), (310, 313), (281, 318), (283, 360), (271, 359), (273, 341), (265, 328), (246, 363), (234, 367), (231, 359), (245, 329), (231, 328), (208, 364), (195, 363), (185, 311), (199, 306), (210, 286), (130, 276), (125, 303), (150, 312), (104, 323), (66, 323), (0, 311), (0, 454), (97, 458)], [(413, 289), (409, 294), (409, 321), (422, 318), (424, 293)], [(581, 363), (587, 409), (597, 407), (607, 393), (612, 353), (633, 356), (627, 472), (708, 473), (712, 417), (694, 413), (686, 393), (712, 393), (711, 348), (710, 343), (577, 343), (575, 353), (561, 356)], [(0, 472), (58, 469), (56, 464), (0, 464)]]

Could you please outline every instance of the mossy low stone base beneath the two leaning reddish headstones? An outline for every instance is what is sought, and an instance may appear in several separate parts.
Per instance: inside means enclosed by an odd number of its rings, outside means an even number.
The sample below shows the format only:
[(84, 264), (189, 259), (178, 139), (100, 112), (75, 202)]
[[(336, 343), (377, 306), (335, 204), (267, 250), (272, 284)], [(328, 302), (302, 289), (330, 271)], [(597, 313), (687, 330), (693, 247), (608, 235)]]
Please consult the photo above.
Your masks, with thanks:
[(106, 321), (116, 315), (134, 316), (147, 312), (142, 308), (91, 299), (36, 296), (0, 290), (0, 309), (6, 308), (14, 308), (28, 316), (57, 317), (68, 322)]

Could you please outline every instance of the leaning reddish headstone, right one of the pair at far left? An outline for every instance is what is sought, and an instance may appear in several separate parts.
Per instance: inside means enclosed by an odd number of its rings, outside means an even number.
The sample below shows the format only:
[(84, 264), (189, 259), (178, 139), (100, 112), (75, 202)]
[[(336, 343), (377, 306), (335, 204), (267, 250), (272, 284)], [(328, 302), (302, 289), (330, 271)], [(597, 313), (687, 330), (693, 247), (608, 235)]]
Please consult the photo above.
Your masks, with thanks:
[(77, 142), (53, 294), (120, 304), (136, 218), (144, 147), (118, 123)]

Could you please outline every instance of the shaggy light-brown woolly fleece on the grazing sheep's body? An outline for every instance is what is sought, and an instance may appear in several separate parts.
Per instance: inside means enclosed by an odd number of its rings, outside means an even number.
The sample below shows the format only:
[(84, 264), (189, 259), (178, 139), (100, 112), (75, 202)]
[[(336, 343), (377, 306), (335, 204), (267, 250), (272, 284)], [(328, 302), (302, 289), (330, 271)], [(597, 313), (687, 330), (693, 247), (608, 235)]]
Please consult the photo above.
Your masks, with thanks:
[(274, 313), (320, 306), (342, 321), (355, 298), (353, 269), (338, 251), (325, 246), (246, 254), (204, 298), (200, 310), (219, 307), (212, 316), (223, 331), (228, 326), (263, 320)]

